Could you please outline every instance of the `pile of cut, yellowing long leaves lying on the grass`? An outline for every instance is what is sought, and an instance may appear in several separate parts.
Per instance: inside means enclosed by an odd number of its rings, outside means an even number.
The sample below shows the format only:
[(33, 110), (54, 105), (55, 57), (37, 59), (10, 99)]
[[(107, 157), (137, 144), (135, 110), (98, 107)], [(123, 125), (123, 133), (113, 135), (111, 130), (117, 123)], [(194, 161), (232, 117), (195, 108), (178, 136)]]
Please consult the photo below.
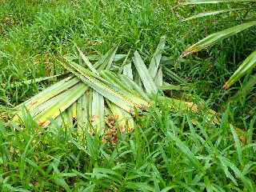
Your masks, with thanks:
[[(149, 67), (138, 51), (133, 55), (116, 54), (118, 46), (114, 46), (93, 64), (77, 47), (77, 57), (66, 57), (65, 62), (59, 62), (70, 75), (15, 107), (18, 112), (14, 120), (26, 118), (23, 112), (26, 109), (42, 127), (54, 122), (58, 126), (76, 127), (81, 133), (102, 135), (117, 128), (121, 132), (131, 131), (135, 112), (148, 110), (155, 95), (167, 101), (174, 112), (190, 110), (198, 114), (199, 106), (163, 94), (162, 90), (187, 88), (163, 82), (161, 59), (165, 42), (163, 36)], [(116, 65), (120, 59), (122, 64)], [(210, 122), (218, 123), (213, 110), (207, 110), (205, 115)]]

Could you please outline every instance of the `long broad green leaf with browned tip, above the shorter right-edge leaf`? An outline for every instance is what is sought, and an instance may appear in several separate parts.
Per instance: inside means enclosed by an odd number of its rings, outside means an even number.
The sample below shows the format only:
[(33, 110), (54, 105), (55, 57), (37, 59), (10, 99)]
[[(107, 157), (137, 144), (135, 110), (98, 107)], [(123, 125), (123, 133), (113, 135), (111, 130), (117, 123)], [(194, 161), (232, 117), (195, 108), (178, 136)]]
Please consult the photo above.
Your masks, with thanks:
[(207, 46), (213, 45), (218, 40), (221, 40), (223, 38), (228, 38), (234, 34), (238, 34), (242, 30), (246, 30), (246, 29), (250, 28), (251, 26), (256, 26), (256, 21), (246, 22), (242, 25), (233, 26), (226, 30), (222, 30), (222, 31), (219, 31), (214, 34), (210, 34), (208, 37), (203, 38), (201, 41), (195, 43), (193, 46), (190, 46), (188, 49), (186, 49), (182, 53), (181, 57), (185, 57), (188, 54), (202, 50), (202, 49), (206, 48)]

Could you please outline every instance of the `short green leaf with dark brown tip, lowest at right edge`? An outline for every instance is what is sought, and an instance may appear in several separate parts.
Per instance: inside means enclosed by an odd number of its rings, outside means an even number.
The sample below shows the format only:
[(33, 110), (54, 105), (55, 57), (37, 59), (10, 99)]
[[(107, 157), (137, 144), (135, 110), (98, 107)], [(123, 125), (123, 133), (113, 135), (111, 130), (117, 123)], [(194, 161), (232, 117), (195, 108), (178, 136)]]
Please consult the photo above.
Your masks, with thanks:
[(234, 72), (234, 74), (230, 77), (230, 79), (225, 83), (224, 88), (228, 89), (230, 86), (237, 82), (243, 75), (248, 73), (256, 66), (256, 50), (252, 54), (250, 54), (242, 65), (238, 67), (238, 70)]

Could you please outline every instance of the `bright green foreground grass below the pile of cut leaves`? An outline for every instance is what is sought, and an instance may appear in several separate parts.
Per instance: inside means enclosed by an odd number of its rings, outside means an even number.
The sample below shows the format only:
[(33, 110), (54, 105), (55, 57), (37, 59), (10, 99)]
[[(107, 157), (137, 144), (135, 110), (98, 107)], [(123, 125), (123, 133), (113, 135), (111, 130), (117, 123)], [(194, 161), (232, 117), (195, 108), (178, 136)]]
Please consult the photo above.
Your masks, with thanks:
[(220, 126), (206, 128), (158, 105), (114, 145), (70, 127), (40, 129), (30, 118), (15, 131), (2, 125), (1, 190), (253, 191), (255, 118), (239, 142), (229, 110)]

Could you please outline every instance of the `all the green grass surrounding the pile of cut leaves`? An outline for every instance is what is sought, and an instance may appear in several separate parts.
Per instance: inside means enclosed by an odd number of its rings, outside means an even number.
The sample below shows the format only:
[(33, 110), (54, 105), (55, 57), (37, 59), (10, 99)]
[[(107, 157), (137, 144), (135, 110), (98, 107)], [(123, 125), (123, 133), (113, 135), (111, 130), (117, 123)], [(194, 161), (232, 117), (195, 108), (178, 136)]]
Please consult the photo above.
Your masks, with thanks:
[[(242, 86), (222, 86), (255, 49), (255, 29), (177, 62), (206, 34), (239, 21), (181, 22), (212, 7), (174, 8), (176, 3), (0, 0), (0, 191), (254, 191), (255, 87), (232, 98)], [(6, 107), (50, 83), (10, 85), (62, 73), (56, 61), (74, 54), (75, 46), (102, 55), (118, 43), (118, 54), (140, 50), (150, 60), (162, 34), (167, 36), (165, 66), (191, 83), (195, 102), (203, 98), (219, 112), (219, 126), (209, 127), (203, 118), (192, 126), (193, 114), (173, 114), (158, 99), (149, 113), (136, 116), (133, 133), (119, 133), (116, 144), (97, 135), (80, 138), (70, 127), (45, 130), (30, 118), (21, 126), (6, 123)], [(167, 74), (165, 79), (177, 84)], [(230, 123), (245, 131), (246, 140)]]

